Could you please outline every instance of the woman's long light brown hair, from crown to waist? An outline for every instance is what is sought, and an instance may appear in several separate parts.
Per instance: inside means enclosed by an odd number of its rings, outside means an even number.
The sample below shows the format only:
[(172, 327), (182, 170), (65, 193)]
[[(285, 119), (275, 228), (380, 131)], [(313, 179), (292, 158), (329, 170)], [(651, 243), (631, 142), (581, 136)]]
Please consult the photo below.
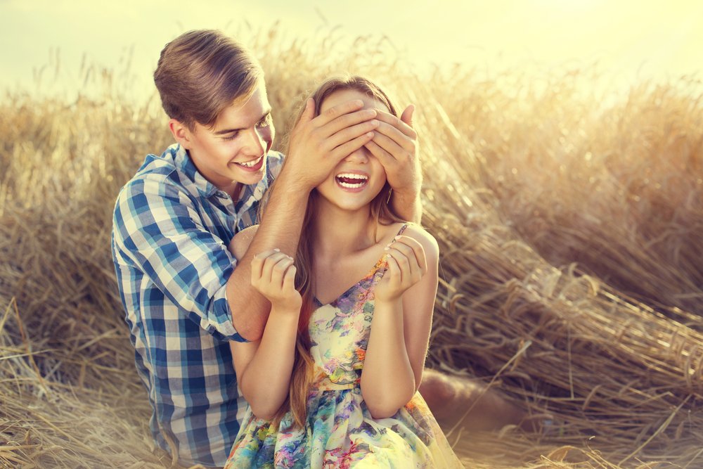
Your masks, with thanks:
[[(375, 101), (385, 105), (389, 112), (398, 116), (396, 107), (391, 99), (382, 91), (376, 84), (369, 79), (348, 76), (334, 77), (325, 80), (318, 88), (309, 96), (315, 102), (315, 115), (320, 114), (322, 103), (330, 95), (336, 91), (352, 89), (366, 94)], [(304, 101), (304, 103), (307, 102)], [(304, 110), (304, 105), (299, 110), (297, 120), (300, 119)], [(297, 122), (296, 120), (296, 122)], [(286, 144), (288, 146), (288, 144)], [(288, 150), (288, 148), (286, 148)], [(288, 151), (286, 151), (288, 154)], [(389, 205), (392, 189), (388, 182), (383, 186), (380, 193), (370, 202), (370, 216), (375, 220), (375, 226), (378, 224), (393, 224), (403, 221), (396, 213), (393, 212)], [(309, 393), (310, 383), (314, 378), (314, 361), (310, 354), (310, 335), (308, 332), (309, 320), (314, 311), (314, 295), (315, 285), (314, 276), (312, 275), (313, 257), (312, 249), (314, 245), (313, 234), (311, 230), (311, 221), (316, 212), (316, 199), (318, 193), (313, 190), (308, 200), (307, 210), (300, 232), (300, 240), (295, 255), (295, 285), (302, 295), (302, 309), (298, 321), (298, 334), (295, 344), (295, 361), (293, 363), (293, 371), (290, 378), (290, 391), (288, 399), (278, 409), (273, 422), (275, 425), (280, 423), (280, 419), (285, 412), (290, 410), (294, 419), (295, 425), (303, 427), (307, 418), (307, 398)]]

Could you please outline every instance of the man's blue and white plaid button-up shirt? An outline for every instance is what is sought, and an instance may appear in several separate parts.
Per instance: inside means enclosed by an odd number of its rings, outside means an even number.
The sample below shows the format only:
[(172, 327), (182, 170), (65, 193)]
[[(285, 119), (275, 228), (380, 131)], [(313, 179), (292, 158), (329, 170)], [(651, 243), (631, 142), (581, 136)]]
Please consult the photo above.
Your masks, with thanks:
[(153, 408), (157, 444), (186, 464), (224, 465), (246, 410), (229, 341), (226, 282), (234, 233), (256, 222), (259, 200), (283, 155), (235, 204), (173, 145), (148, 155), (117, 196), (112, 259), (127, 311), (136, 368)]

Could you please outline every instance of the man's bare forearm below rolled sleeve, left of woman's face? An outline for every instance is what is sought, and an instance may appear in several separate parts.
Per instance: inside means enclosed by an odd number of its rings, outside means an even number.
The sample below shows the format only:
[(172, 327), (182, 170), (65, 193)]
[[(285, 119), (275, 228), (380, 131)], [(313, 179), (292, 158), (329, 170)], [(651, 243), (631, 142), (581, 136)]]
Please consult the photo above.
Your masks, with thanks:
[(239, 335), (247, 340), (262, 337), (271, 307), (266, 298), (251, 288), (252, 259), (259, 252), (274, 248), (295, 257), (308, 198), (308, 192), (288, 183), (285, 172), (280, 174), (259, 220), (259, 229), (227, 281), (232, 322)]

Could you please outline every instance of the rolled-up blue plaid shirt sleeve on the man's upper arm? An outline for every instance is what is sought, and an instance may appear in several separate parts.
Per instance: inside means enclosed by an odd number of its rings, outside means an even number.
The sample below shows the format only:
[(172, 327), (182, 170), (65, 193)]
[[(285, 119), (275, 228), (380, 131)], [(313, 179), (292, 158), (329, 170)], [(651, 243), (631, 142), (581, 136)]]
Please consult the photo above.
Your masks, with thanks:
[(143, 281), (153, 282), (189, 319), (208, 333), (242, 341), (226, 297), (236, 259), (228, 240), (208, 231), (207, 214), (197, 206), (162, 174), (134, 179), (117, 198), (114, 242), (122, 262), (143, 272)]

